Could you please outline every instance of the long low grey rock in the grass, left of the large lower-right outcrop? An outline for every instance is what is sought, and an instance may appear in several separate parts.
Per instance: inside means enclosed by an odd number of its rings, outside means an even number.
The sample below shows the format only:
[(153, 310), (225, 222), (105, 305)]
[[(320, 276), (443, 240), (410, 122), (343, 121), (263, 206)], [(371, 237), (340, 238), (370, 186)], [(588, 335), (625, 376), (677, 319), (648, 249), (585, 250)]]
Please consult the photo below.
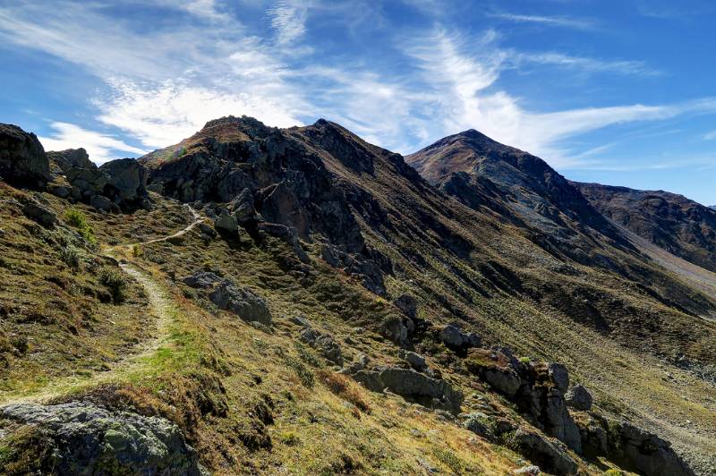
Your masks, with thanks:
[(413, 398), (428, 406), (457, 410), (463, 395), (447, 381), (430, 378), (415, 370), (387, 367), (377, 370), (360, 370), (353, 378), (374, 392), (388, 388), (397, 395)]

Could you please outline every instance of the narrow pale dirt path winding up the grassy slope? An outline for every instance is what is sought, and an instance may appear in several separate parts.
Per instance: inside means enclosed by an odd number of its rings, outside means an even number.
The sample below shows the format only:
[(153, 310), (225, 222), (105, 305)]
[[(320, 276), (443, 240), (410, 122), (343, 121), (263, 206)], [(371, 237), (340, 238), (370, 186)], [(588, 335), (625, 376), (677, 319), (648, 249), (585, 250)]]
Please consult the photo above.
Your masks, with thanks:
[(91, 387), (107, 383), (121, 377), (122, 375), (139, 372), (146, 365), (146, 359), (156, 353), (162, 344), (168, 340), (170, 327), (175, 319), (175, 308), (172, 300), (166, 292), (164, 285), (161, 285), (149, 271), (122, 259), (123, 251), (130, 251), (134, 246), (141, 246), (155, 242), (166, 242), (173, 238), (181, 237), (189, 233), (192, 229), (199, 225), (203, 218), (193, 208), (187, 206), (192, 212), (192, 223), (175, 234), (164, 236), (161, 238), (149, 240), (148, 242), (136, 242), (130, 244), (121, 244), (107, 248), (103, 254), (105, 256), (117, 259), (119, 268), (124, 274), (130, 276), (144, 289), (149, 300), (149, 310), (156, 316), (156, 334), (143, 342), (132, 347), (131, 353), (127, 354), (119, 361), (115, 361), (110, 365), (109, 370), (94, 372), (89, 376), (70, 375), (61, 378), (55, 378), (45, 387), (30, 395), (14, 395), (0, 397), (0, 404), (19, 404), (25, 402), (45, 403), (55, 397), (66, 395), (67, 393), (81, 389), (82, 387)]

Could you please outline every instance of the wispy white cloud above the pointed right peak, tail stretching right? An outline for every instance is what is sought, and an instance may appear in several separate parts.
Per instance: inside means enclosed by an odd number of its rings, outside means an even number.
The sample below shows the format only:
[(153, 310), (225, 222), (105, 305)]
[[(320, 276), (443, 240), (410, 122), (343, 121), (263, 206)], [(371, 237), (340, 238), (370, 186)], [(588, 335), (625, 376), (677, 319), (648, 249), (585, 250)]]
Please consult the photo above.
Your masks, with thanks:
[(712, 107), (709, 101), (680, 106), (614, 106), (538, 114), (524, 110), (507, 92), (495, 90), (508, 55), (492, 45), (488, 35), (465, 54), (460, 38), (438, 30), (410, 53), (422, 62), (427, 86), (436, 98), (443, 133), (475, 128), (495, 140), (529, 150), (553, 166), (577, 166), (559, 141), (618, 123), (667, 119)]

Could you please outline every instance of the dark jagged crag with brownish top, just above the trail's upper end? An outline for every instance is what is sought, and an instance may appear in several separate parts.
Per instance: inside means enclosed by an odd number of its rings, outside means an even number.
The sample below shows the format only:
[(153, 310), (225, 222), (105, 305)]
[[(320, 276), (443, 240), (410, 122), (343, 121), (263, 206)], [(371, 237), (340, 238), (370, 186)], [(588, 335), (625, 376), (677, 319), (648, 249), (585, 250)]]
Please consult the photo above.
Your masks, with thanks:
[[(319, 143), (325, 135), (328, 148), (336, 144), (334, 126), (325, 121), (310, 133)], [(351, 148), (355, 157), (370, 156), (356, 145)], [(320, 237), (327, 241), (325, 254), (333, 266), (362, 276), (375, 293), (385, 293), (381, 270), (389, 272), (390, 264), (366, 246), (349, 209), (354, 191), (328, 171), (321, 157), (325, 153), (328, 149), (316, 149), (296, 131), (230, 116), (210, 121), (191, 138), (140, 162), (148, 167), (149, 186), (155, 190), (186, 202), (228, 204), (218, 227), (233, 230), (234, 221), (251, 226), (262, 220), (286, 225), (304, 241)]]

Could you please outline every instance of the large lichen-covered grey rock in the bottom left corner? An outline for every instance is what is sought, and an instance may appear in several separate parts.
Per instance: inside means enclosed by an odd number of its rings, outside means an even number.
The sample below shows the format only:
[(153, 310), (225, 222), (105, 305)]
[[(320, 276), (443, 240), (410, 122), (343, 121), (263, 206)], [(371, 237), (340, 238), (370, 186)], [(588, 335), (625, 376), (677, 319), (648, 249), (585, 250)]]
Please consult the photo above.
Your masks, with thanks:
[(47, 429), (59, 474), (202, 474), (196, 452), (163, 418), (82, 403), (13, 404), (0, 416)]

